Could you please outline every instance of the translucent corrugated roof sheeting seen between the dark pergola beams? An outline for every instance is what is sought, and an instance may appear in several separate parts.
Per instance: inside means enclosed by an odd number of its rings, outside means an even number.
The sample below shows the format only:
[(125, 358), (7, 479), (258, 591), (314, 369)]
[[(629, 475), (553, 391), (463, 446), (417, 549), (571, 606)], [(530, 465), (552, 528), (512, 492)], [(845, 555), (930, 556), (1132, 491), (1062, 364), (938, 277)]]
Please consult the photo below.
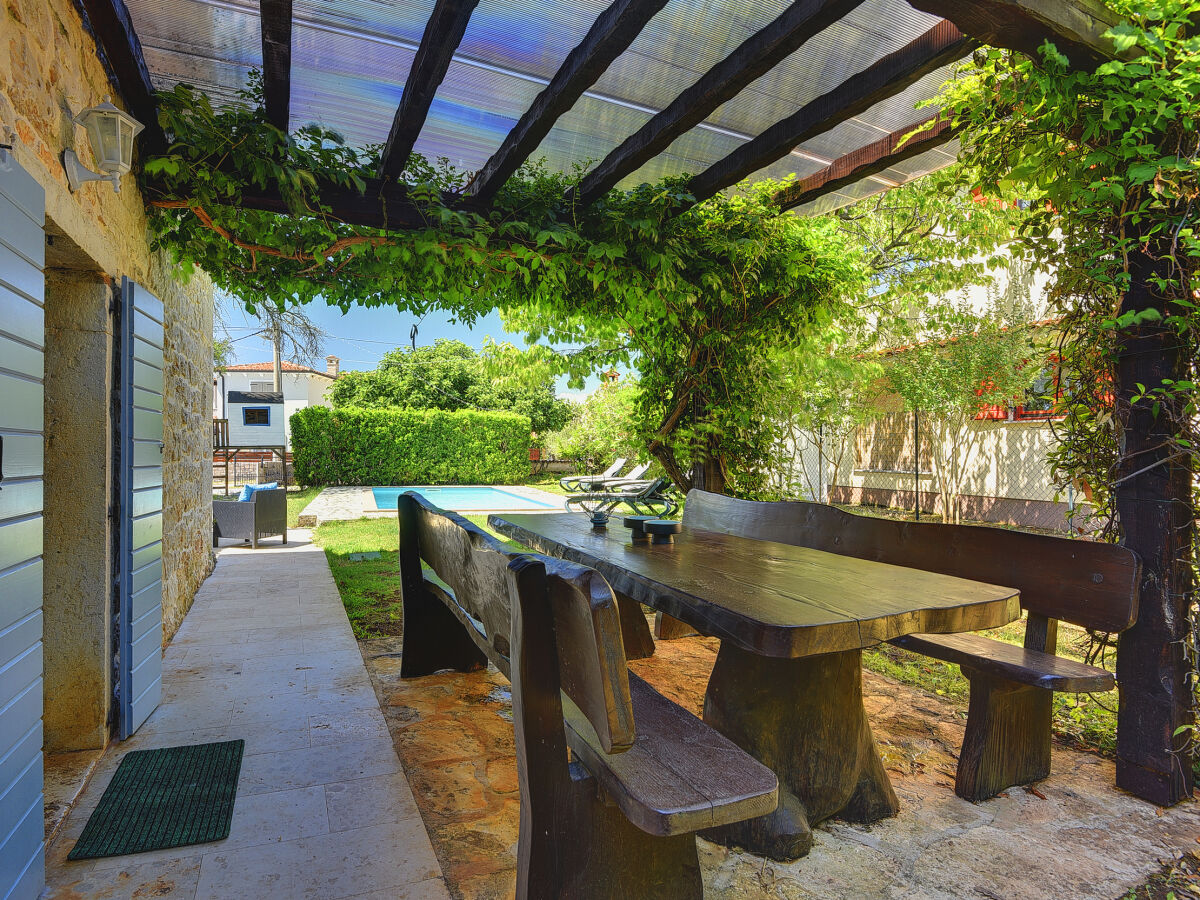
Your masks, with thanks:
[[(126, 0), (158, 88), (196, 85), (227, 102), (262, 65), (257, 0)], [(481, 0), (416, 143), (428, 158), (478, 169), (500, 145), (608, 0)], [(668, 0), (632, 46), (558, 120), (534, 157), (551, 167), (599, 162), (790, 0)], [(319, 122), (356, 145), (382, 143), (391, 126), (433, 0), (295, 0), (292, 127)], [(698, 173), (742, 143), (832, 90), (937, 19), (904, 0), (865, 0), (666, 152), (623, 182)], [(949, 68), (796, 148), (756, 178), (806, 175), (842, 154), (931, 114)], [(953, 145), (822, 198), (818, 211), (925, 174), (953, 160)], [(865, 196), (864, 193), (864, 196)]]

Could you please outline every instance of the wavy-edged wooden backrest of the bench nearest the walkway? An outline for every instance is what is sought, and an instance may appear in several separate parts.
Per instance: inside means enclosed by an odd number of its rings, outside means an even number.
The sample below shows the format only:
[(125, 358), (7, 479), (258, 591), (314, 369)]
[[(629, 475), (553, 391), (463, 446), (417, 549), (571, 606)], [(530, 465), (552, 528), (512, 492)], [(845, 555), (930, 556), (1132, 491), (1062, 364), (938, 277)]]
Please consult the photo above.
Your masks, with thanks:
[[(526, 607), (552, 611), (545, 634), (552, 635), (553, 646), (529, 646), (524, 652), (546, 658), (557, 653), (562, 690), (587, 716), (607, 752), (632, 745), (634, 709), (617, 600), (598, 571), (509, 550), (462, 516), (413, 492), (397, 498), (397, 516), (402, 544), (415, 539), (420, 558), (450, 586), (452, 601), (470, 617), (476, 643), (510, 679), (518, 587), (544, 586), (536, 589), (546, 596), (528, 599)], [(402, 547), (401, 565), (404, 556)], [(530, 560), (545, 577), (514, 577), (514, 570), (528, 569)], [(553, 694), (557, 701), (557, 690)], [(560, 726), (562, 720), (559, 733)]]

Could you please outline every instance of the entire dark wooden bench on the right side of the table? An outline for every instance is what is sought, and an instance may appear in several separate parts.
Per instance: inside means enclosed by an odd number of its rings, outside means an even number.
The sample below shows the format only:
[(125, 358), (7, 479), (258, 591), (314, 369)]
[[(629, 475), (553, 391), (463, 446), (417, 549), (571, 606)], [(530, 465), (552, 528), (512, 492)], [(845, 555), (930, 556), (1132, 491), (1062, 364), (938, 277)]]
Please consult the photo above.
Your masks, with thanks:
[(898, 647), (955, 662), (971, 682), (955, 793), (995, 797), (1050, 774), (1054, 691), (1108, 691), (1103, 668), (1056, 655), (1058, 620), (1120, 632), (1138, 618), (1141, 563), (1124, 547), (1026, 532), (900, 522), (817, 503), (756, 503), (691, 491), (685, 527), (1002, 584), (1021, 592), (1025, 646), (984, 635), (905, 635)]

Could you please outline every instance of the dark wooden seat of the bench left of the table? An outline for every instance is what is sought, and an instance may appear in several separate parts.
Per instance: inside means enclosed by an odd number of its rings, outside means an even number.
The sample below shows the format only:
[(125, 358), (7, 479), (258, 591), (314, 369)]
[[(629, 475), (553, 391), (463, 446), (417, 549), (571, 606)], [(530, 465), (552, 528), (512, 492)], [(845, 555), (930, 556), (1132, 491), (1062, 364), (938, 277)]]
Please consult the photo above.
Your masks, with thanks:
[(563, 698), (571, 752), (630, 822), (649, 834), (689, 834), (775, 809), (775, 773), (632, 672), (637, 738), (606, 754), (587, 718)]

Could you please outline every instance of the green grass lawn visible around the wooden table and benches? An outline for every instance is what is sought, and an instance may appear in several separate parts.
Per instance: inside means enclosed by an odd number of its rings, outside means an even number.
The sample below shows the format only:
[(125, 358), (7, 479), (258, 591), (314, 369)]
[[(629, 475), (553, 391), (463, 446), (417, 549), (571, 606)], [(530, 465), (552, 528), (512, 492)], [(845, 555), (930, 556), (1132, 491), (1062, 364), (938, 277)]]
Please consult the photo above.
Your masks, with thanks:
[[(557, 480), (554, 484), (557, 486)], [(288, 514), (292, 517), (292, 497), (288, 498)], [(490, 530), (486, 516), (467, 516), (467, 518)], [(503, 536), (497, 536), (504, 540)], [(313, 530), (313, 540), (325, 550), (355, 636), (365, 640), (398, 634), (401, 611), (395, 520), (360, 518), (352, 522), (328, 522)], [(505, 540), (505, 542), (515, 550), (522, 548), (512, 541)], [(379, 551), (380, 557), (360, 562), (349, 559), (350, 553), (364, 551)], [(1020, 644), (1024, 632), (1024, 622), (1015, 622), (988, 634)], [(1087, 646), (1086, 638), (1082, 629), (1061, 625), (1058, 653), (1081, 660)], [(865, 650), (863, 665), (904, 684), (944, 697), (966, 709), (967, 680), (955, 665), (918, 656), (890, 644)], [(1055, 731), (1078, 746), (1106, 754), (1114, 752), (1116, 694), (1056, 694)]]

